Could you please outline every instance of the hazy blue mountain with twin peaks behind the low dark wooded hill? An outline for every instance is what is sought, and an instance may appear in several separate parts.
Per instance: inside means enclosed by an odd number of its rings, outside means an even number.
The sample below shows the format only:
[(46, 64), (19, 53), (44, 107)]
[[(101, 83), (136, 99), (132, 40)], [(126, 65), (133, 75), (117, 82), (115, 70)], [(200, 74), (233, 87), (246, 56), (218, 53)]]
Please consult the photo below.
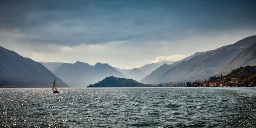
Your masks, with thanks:
[[(56, 65), (56, 63), (51, 64)], [(52, 67), (52, 65), (50, 65), (50, 67)], [(49, 67), (49, 65), (45, 66)], [(85, 87), (109, 76), (125, 78), (121, 72), (108, 64), (96, 63), (92, 66), (88, 63), (79, 61), (73, 64), (63, 63), (52, 70), (52, 72), (63, 79), (71, 87)]]

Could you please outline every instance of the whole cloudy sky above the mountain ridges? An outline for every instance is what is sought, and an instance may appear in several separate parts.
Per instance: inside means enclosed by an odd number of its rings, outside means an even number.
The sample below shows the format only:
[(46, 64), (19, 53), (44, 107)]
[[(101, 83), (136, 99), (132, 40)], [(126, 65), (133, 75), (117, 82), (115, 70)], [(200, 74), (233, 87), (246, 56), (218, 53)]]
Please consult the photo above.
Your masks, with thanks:
[(119, 68), (256, 35), (256, 1), (2, 1), (0, 46), (35, 61)]

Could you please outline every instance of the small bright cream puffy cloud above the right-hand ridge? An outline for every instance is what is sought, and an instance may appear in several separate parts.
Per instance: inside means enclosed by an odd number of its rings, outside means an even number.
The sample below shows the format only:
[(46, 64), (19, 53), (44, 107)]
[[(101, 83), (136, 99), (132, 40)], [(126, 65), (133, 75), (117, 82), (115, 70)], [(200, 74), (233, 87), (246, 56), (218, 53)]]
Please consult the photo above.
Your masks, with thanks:
[(180, 55), (180, 54), (170, 55), (170, 56), (158, 56), (154, 61), (152, 61), (152, 63), (162, 62), (162, 61), (179, 61), (185, 57), (186, 57), (185, 55)]

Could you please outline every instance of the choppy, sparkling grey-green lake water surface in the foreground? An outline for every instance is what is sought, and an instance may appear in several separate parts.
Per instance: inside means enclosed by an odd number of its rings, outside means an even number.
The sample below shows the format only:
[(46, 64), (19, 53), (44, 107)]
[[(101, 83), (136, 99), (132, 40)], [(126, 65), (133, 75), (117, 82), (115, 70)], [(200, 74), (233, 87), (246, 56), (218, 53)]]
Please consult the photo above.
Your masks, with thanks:
[(256, 88), (0, 89), (1, 127), (256, 127)]

